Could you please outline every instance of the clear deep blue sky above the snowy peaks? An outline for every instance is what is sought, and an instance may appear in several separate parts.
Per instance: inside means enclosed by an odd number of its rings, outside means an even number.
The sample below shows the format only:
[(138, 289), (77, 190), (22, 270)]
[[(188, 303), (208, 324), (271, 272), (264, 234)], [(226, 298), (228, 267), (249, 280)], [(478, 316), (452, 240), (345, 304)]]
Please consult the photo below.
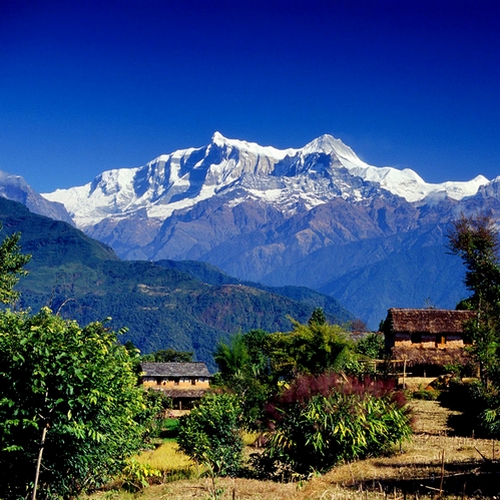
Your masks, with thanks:
[(216, 130), (492, 179), (500, 1), (0, 0), (1, 170), (52, 191)]

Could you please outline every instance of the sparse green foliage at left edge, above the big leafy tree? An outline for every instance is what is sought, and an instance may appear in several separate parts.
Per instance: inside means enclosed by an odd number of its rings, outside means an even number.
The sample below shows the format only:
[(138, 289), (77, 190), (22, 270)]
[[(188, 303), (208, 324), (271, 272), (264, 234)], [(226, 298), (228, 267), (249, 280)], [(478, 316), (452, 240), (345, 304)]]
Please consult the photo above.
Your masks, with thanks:
[(18, 299), (19, 292), (14, 287), (21, 276), (28, 274), (24, 266), (30, 261), (31, 255), (21, 253), (20, 239), (21, 234), (14, 233), (0, 245), (0, 302), (3, 304), (12, 304)]

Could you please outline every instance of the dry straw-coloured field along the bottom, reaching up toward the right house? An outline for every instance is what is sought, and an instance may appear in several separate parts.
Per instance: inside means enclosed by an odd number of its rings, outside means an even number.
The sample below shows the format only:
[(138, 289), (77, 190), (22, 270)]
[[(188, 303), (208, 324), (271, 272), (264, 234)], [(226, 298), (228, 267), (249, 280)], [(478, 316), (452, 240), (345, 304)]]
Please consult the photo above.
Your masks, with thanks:
[[(452, 413), (437, 401), (413, 400), (411, 405), (415, 435), (395, 454), (341, 465), (309, 481), (211, 479), (200, 477), (201, 471), (193, 468), (191, 479), (152, 485), (135, 494), (101, 492), (92, 500), (500, 498), (500, 443), (451, 435)], [(178, 459), (178, 466), (185, 467), (185, 458)]]

